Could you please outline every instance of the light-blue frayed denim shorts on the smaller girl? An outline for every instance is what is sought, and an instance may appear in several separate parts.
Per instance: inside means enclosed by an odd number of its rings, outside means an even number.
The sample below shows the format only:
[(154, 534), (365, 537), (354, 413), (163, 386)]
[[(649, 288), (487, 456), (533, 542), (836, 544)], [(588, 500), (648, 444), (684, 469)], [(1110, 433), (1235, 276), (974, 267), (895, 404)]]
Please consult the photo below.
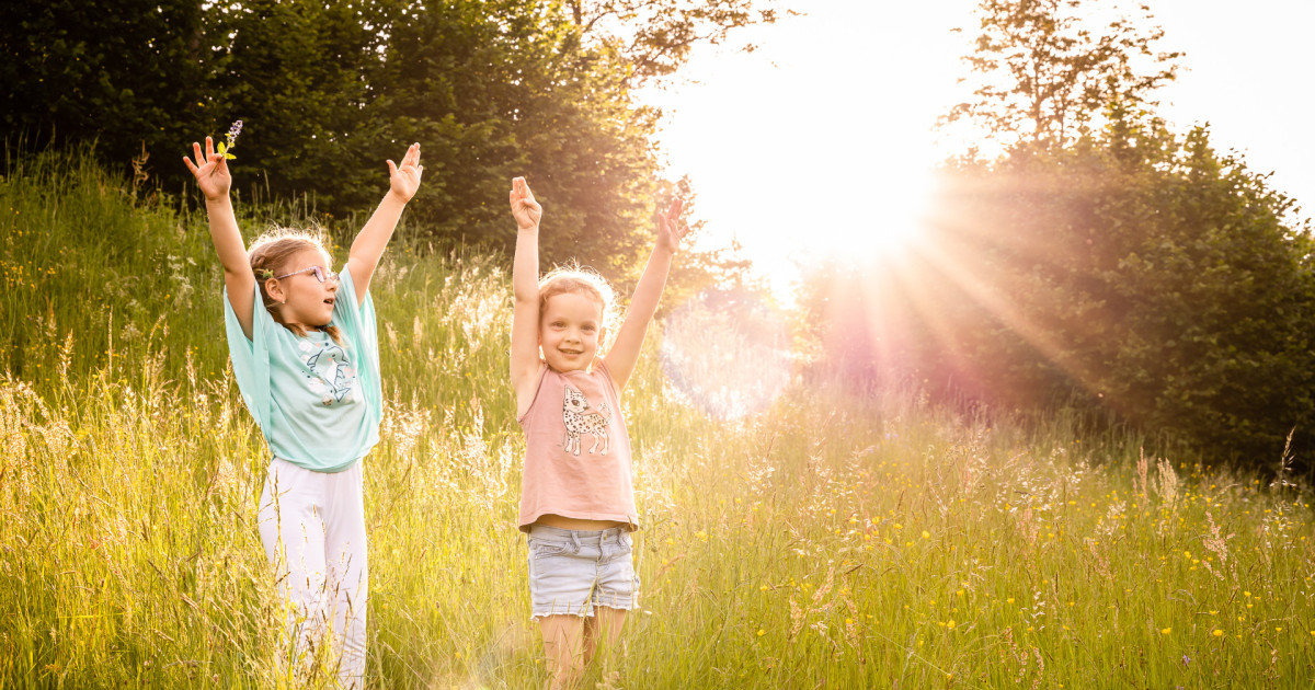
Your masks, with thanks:
[(639, 599), (639, 576), (630, 556), (630, 532), (530, 527), (533, 618), (592, 616), (594, 606), (629, 611)]

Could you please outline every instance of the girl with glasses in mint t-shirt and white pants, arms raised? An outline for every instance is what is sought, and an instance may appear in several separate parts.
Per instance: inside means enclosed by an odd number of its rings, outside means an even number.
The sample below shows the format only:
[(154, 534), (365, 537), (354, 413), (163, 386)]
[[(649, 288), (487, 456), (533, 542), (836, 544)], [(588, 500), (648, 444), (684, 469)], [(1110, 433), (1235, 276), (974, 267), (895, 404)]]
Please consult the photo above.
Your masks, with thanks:
[(370, 279), (416, 196), (419, 145), (388, 162), (389, 189), (330, 269), (320, 239), (279, 231), (243, 246), (224, 152), (205, 138), (184, 156), (205, 196), (224, 265), (224, 323), (233, 372), (272, 460), (259, 530), (287, 598), (291, 669), (331, 631), (338, 679), (364, 685), (368, 566), (362, 457), (379, 442), (383, 410)]

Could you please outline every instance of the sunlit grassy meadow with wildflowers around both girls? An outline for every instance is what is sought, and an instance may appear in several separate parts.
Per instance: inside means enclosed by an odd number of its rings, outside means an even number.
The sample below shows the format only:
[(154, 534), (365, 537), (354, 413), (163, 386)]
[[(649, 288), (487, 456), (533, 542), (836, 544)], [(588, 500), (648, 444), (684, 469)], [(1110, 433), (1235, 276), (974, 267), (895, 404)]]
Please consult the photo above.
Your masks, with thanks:
[[(0, 687), (331, 687), (277, 662), (268, 459), (227, 371), (204, 216), (89, 155), (9, 171)], [(249, 239), (308, 216), (239, 206)], [(509, 258), (421, 230), (372, 284), (368, 682), (540, 686)], [(1063, 411), (1023, 425), (802, 375), (723, 421), (665, 382), (660, 338), (626, 393), (640, 610), (586, 687), (1311, 687), (1301, 481), (1152, 457)]]

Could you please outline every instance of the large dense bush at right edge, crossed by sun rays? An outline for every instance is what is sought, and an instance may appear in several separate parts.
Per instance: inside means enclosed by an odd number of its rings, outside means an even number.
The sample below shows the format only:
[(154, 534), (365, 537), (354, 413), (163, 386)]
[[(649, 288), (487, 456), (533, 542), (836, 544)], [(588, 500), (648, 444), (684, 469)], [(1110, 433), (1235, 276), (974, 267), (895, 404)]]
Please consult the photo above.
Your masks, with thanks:
[(914, 357), (945, 392), (1114, 413), (1252, 464), (1295, 427), (1308, 453), (1311, 227), (1205, 129), (1115, 126), (949, 179), (917, 288), (943, 296), (919, 313), (943, 327)]

